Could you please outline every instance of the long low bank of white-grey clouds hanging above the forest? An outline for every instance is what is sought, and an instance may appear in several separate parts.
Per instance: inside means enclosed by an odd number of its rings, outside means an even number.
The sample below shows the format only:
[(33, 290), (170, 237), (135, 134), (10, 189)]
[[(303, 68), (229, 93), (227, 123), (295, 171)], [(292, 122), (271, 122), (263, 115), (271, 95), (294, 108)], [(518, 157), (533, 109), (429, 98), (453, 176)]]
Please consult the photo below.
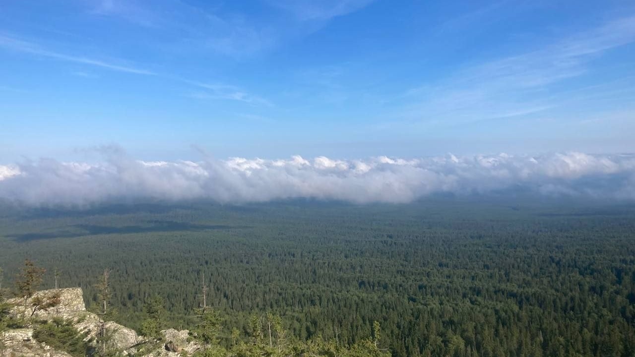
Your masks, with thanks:
[(431, 194), (635, 199), (635, 155), (581, 152), (365, 160), (230, 158), (140, 161), (108, 151), (99, 164), (39, 159), (0, 165), (0, 199), (26, 205), (91, 205), (117, 199), (213, 199), (222, 203), (314, 198), (408, 203)]

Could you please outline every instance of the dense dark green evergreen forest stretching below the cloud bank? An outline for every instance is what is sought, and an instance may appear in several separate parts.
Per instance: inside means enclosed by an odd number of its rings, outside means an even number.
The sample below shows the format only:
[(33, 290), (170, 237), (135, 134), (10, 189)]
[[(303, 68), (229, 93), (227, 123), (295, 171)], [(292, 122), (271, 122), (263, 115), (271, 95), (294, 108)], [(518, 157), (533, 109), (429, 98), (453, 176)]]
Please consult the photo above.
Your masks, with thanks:
[(635, 356), (635, 206), (430, 198), (410, 205), (289, 201), (3, 206), (0, 267), (98, 300), (140, 328), (157, 295), (191, 328), (203, 281), (231, 327), (281, 316), (298, 339), (352, 345), (373, 321), (393, 356)]

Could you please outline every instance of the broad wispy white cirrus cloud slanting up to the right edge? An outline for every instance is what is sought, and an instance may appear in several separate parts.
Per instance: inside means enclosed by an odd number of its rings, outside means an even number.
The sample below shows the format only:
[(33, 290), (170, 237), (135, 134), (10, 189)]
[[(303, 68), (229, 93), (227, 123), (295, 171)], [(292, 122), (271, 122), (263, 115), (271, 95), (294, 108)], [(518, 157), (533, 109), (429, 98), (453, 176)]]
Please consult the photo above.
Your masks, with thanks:
[(571, 98), (556, 84), (593, 71), (594, 59), (635, 41), (635, 16), (547, 43), (537, 50), (471, 64), (403, 95), (405, 118), (461, 125), (536, 114)]

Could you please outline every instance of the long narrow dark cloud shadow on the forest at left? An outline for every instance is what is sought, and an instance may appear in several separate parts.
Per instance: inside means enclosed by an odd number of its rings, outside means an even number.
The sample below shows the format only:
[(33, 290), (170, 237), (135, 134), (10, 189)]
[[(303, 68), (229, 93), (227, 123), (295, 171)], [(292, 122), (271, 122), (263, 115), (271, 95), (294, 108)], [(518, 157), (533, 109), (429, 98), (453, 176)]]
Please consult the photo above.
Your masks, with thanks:
[[(150, 222), (152, 226), (123, 226), (123, 227), (109, 227), (109, 226), (93, 226), (90, 224), (77, 224), (73, 231), (64, 230), (56, 232), (41, 232), (41, 233), (25, 233), (25, 234), (7, 234), (8, 238), (13, 238), (16, 241), (32, 241), (37, 239), (52, 239), (52, 238), (74, 238), (82, 236), (94, 236), (99, 234), (133, 234), (133, 233), (148, 233), (148, 232), (177, 232), (177, 231), (211, 231), (218, 229), (244, 229), (250, 228), (248, 226), (225, 226), (225, 225), (206, 225), (206, 224), (193, 224), (187, 222), (172, 222), (172, 221), (154, 221)], [(81, 229), (83, 232), (78, 232), (77, 229)]]

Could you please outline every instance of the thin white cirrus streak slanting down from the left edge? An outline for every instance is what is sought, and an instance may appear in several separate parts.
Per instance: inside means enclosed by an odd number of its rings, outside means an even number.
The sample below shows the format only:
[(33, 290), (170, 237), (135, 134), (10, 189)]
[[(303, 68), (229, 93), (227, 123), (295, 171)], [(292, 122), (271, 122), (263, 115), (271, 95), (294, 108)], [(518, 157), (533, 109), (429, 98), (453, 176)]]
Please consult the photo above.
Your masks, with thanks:
[(144, 76), (154, 76), (156, 73), (147, 69), (140, 69), (128, 65), (119, 65), (105, 60), (96, 58), (89, 58), (76, 55), (68, 55), (66, 53), (60, 53), (57, 51), (46, 50), (37, 43), (30, 41), (24, 41), (8, 34), (0, 34), (0, 47), (6, 50), (18, 51), (22, 53), (29, 53), (31, 55), (53, 58), (55, 60), (61, 60), (65, 62), (74, 62), (78, 64), (91, 65), (95, 67), (102, 67), (111, 71), (126, 72), (132, 74), (142, 74)]

